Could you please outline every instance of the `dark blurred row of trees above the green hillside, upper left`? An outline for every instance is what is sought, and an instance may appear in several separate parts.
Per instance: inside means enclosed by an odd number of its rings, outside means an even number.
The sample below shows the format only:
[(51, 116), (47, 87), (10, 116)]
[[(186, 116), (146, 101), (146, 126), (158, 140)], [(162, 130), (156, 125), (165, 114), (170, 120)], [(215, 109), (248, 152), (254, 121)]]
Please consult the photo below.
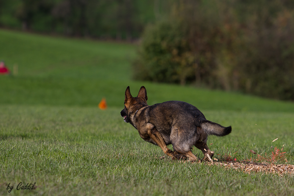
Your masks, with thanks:
[(155, 20), (149, 0), (0, 0), (0, 27), (131, 40)]

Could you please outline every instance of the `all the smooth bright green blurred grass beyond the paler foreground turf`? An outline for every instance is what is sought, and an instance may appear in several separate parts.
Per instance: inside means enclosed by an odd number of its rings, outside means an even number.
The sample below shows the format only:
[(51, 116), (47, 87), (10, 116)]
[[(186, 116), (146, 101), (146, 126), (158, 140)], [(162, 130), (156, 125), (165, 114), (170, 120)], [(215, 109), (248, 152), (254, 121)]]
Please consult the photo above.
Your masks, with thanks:
[(132, 81), (131, 44), (0, 30), (0, 45), (0, 59), (11, 71), (19, 66), (17, 76), (0, 77), (0, 104), (96, 106), (105, 97), (122, 107), (126, 87), (136, 96), (144, 85), (149, 105), (182, 100), (201, 110), (294, 111), (293, 103), (240, 93)]

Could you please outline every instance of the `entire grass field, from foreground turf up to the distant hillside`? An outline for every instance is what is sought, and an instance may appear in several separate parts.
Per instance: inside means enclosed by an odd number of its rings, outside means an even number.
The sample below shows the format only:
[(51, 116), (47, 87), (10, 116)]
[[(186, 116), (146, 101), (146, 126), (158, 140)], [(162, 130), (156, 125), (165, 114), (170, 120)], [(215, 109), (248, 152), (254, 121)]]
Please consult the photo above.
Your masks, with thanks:
[[(19, 67), (0, 77), (0, 195), (293, 195), (293, 175), (159, 159), (120, 116), (126, 86), (136, 96), (144, 85), (149, 105), (183, 100), (232, 126), (208, 138), (214, 158), (256, 159), (284, 145), (277, 163), (294, 164), (293, 103), (132, 81), (136, 46), (127, 43), (0, 30), (0, 44), (0, 59)], [(103, 97), (107, 110), (97, 107)], [(36, 184), (17, 190), (20, 182)]]

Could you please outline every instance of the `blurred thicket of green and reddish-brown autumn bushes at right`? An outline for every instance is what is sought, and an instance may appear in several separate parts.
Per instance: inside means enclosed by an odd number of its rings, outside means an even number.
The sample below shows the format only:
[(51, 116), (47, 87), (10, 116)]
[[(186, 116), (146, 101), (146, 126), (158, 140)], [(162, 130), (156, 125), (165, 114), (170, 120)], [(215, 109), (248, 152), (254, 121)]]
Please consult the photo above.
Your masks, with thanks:
[(293, 0), (174, 0), (147, 26), (136, 79), (294, 100)]

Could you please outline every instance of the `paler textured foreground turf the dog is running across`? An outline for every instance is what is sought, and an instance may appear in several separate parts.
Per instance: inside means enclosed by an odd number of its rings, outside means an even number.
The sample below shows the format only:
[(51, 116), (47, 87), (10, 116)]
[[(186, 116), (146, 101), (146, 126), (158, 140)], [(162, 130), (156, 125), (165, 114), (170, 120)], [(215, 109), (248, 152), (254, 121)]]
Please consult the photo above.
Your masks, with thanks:
[[(0, 194), (291, 195), (294, 191), (293, 175), (246, 174), (168, 157), (158, 159), (162, 150), (144, 142), (137, 130), (123, 122), (119, 111), (0, 106)], [(285, 144), (285, 157), (293, 164), (293, 114), (209, 110), (206, 116), (234, 128), (224, 138), (209, 137), (216, 158), (236, 152), (238, 160), (249, 159), (255, 156), (251, 149), (270, 154), (271, 145), (281, 148)], [(200, 150), (193, 153), (203, 157)], [(37, 188), (16, 190), (19, 182), (36, 182)], [(11, 193), (6, 190), (9, 183), (14, 186)]]

